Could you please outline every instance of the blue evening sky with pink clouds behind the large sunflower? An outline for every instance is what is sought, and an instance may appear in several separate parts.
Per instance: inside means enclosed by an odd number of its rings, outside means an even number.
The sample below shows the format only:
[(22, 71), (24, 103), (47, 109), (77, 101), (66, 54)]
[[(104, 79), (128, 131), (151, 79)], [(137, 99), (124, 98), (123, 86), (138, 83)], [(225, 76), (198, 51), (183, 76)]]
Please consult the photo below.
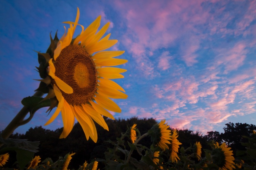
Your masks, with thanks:
[[(75, 21), (77, 7), (85, 27), (99, 15), (100, 27), (110, 22), (112, 49), (125, 51), (127, 71), (114, 81), (128, 98), (114, 99), (122, 109), (111, 112), (115, 118), (165, 118), (205, 135), (228, 122), (256, 124), (255, 0), (1, 0), (0, 130), (39, 85), (34, 51), (46, 52), (50, 33), (63, 35), (69, 25), (62, 22)], [(61, 114), (44, 126), (54, 113), (47, 109), (15, 132), (62, 127)]]

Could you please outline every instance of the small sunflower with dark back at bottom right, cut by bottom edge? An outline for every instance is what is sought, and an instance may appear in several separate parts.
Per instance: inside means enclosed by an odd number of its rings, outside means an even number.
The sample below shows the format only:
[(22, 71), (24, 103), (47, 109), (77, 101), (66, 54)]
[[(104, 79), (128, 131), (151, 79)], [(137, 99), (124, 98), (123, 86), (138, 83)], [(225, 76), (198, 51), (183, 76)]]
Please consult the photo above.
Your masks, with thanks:
[(233, 151), (230, 150), (231, 147), (226, 147), (226, 143), (223, 143), (219, 146), (219, 143), (214, 144), (215, 149), (212, 150), (213, 163), (219, 166), (221, 170), (232, 170), (235, 169), (234, 162), (235, 160)]

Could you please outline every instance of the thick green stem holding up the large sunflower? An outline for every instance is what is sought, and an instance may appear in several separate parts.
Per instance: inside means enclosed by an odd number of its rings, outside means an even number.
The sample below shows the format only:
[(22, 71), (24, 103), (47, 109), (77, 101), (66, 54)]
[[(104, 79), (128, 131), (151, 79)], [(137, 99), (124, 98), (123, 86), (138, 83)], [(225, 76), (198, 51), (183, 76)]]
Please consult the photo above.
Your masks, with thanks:
[[(37, 91), (33, 96), (42, 97), (43, 95), (44, 93)], [(26, 106), (19, 111), (15, 118), (13, 118), (9, 125), (2, 131), (1, 135), (4, 139), (7, 139), (17, 127), (24, 124), (24, 118), (27, 116), (28, 112), (29, 109)]]

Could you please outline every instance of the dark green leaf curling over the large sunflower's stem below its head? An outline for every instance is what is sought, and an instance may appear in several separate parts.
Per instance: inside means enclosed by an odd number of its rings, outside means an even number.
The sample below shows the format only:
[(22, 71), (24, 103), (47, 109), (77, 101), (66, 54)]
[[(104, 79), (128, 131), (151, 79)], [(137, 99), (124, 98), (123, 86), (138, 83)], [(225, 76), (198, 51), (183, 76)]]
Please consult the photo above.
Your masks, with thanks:
[(35, 113), (38, 109), (49, 107), (51, 105), (50, 99), (46, 99), (42, 101), (44, 98), (41, 97), (26, 97), (21, 100), (21, 103), (24, 106), (27, 106), (29, 109), (30, 114)]

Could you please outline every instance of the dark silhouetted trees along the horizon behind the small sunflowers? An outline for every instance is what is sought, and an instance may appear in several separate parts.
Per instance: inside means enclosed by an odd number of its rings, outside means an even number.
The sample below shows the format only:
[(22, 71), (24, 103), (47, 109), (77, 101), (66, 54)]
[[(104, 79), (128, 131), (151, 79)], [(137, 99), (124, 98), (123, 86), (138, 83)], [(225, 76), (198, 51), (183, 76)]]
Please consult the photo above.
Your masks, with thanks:
[[(12, 134), (10, 138), (21, 138), (28, 139), (29, 141), (40, 141), (39, 152), (35, 155), (39, 155), (41, 160), (47, 157), (51, 157), (53, 161), (59, 159), (59, 156), (64, 157), (67, 153), (75, 152), (72, 161), (69, 164), (69, 168), (78, 169), (79, 165), (82, 165), (84, 161), (91, 161), (95, 158), (105, 158), (104, 152), (107, 151), (108, 147), (112, 145), (106, 141), (112, 140), (116, 141), (117, 137), (121, 136), (121, 133), (125, 132), (128, 127), (133, 124), (137, 124), (141, 134), (146, 133), (154, 124), (157, 122), (153, 118), (138, 118), (132, 117), (128, 119), (118, 118), (116, 120), (107, 119), (105, 121), (109, 127), (109, 131), (103, 129), (101, 126), (95, 123), (98, 133), (98, 141), (94, 143), (91, 139), (88, 141), (84, 135), (84, 132), (79, 123), (76, 123), (65, 139), (59, 139), (59, 136), (63, 128), (58, 128), (55, 131), (44, 129), (43, 127), (30, 128), (26, 134)], [(217, 131), (207, 132), (207, 135), (201, 135), (199, 131), (192, 131), (189, 129), (179, 130), (179, 142), (182, 143), (182, 147), (185, 149), (189, 146), (193, 146), (197, 141), (202, 145), (203, 149), (210, 149), (207, 142), (211, 140), (222, 143), (226, 142), (229, 147), (232, 148), (234, 154), (237, 150), (244, 150), (244, 146), (240, 144), (240, 141), (244, 141), (242, 136), (250, 137), (252, 131), (256, 129), (255, 125), (242, 124), (242, 123), (227, 123), (224, 127), (224, 133), (219, 133)], [(131, 142), (129, 138), (126, 139)], [(246, 142), (246, 141), (244, 141)], [(150, 137), (145, 137), (140, 141), (144, 146), (150, 147), (151, 139)], [(127, 145), (127, 147), (129, 147)], [(203, 154), (204, 152), (202, 152)], [(140, 156), (138, 156), (140, 157)], [(136, 155), (133, 155), (136, 158)], [(100, 163), (99, 163), (100, 165)], [(99, 167), (100, 168), (100, 167)]]

